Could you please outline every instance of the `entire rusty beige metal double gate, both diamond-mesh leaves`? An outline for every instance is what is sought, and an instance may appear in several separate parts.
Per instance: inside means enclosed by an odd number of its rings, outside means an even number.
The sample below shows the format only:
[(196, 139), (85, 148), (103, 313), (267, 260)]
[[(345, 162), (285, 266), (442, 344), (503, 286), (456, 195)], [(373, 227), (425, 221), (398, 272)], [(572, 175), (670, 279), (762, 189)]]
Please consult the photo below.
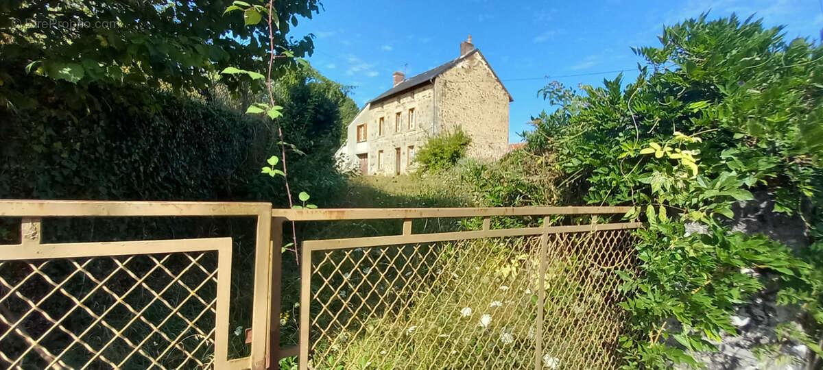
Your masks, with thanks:
[[(625, 207), (272, 210), (267, 203), (0, 201), (4, 368), (612, 368)], [(569, 216), (562, 220), (560, 216)], [(599, 218), (597, 215), (600, 215)], [(249, 355), (229, 358), (231, 238), (41, 243), (59, 218), (254, 217)], [(570, 220), (571, 216), (583, 216)], [(494, 229), (493, 218), (539, 226)], [(481, 220), (413, 233), (415, 220)], [(290, 221), (402, 220), (398, 234), (301, 243), (300, 345), (280, 347)], [(581, 221), (584, 220), (584, 221)], [(574, 223), (585, 222), (585, 224)], [(489, 301), (489, 302), (486, 302)]]

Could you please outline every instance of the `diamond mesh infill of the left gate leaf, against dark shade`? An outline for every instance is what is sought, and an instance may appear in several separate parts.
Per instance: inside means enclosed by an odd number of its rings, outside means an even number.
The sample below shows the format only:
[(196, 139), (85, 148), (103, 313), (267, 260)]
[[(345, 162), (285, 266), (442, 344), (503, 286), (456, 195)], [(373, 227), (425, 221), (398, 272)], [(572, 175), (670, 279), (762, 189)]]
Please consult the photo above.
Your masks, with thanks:
[(208, 368), (217, 252), (0, 261), (0, 367)]

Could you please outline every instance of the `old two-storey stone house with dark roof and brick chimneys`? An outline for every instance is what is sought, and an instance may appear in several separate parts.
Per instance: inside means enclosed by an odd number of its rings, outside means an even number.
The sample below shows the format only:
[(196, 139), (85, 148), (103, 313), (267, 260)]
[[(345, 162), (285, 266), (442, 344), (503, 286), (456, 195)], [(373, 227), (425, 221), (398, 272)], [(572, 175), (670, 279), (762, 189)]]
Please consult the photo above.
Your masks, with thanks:
[(460, 56), (411, 78), (393, 74), (394, 86), (371, 99), (346, 128), (337, 150), (342, 166), (363, 174), (393, 175), (415, 168), (415, 150), (430, 136), (458, 127), (472, 138), (467, 156), (496, 160), (509, 151), (509, 91), (472, 36)]

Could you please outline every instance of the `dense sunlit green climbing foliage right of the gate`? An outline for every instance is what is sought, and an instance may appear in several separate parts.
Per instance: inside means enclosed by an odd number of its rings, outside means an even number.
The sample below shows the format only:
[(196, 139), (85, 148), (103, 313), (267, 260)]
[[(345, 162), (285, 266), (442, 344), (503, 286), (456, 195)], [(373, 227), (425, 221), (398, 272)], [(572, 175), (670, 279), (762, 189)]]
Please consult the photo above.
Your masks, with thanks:
[[(625, 218), (649, 224), (639, 271), (621, 273), (624, 367), (697, 365), (767, 286), (803, 312), (805, 331), (778, 337), (823, 354), (823, 47), (735, 16), (667, 26), (660, 41), (635, 49), (647, 62), (630, 83), (546, 86), (559, 109), (524, 134), (551, 153), (568, 199), (634, 206)], [(802, 217), (811, 247), (732, 232), (733, 205), (754, 191)], [(704, 232), (686, 232), (695, 225)]]

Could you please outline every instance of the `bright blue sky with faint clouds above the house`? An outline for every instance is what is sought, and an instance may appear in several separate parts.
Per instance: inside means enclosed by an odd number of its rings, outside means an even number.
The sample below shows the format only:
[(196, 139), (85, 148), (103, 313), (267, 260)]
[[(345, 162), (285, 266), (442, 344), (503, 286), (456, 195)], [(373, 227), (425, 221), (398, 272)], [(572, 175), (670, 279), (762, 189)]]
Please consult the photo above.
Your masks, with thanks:
[(356, 86), (352, 98), (360, 107), (392, 86), (394, 71), (409, 77), (457, 58), (460, 41), (472, 35), (514, 96), (509, 141), (517, 142), (529, 118), (549, 109), (537, 98), (546, 82), (600, 85), (619, 70), (634, 79), (641, 60), (630, 47), (657, 46), (664, 24), (708, 10), (714, 18), (756, 13), (765, 25), (786, 25), (789, 38), (817, 40), (821, 1), (325, 1), (325, 10), (300, 20), (291, 35), (316, 36), (309, 62)]

